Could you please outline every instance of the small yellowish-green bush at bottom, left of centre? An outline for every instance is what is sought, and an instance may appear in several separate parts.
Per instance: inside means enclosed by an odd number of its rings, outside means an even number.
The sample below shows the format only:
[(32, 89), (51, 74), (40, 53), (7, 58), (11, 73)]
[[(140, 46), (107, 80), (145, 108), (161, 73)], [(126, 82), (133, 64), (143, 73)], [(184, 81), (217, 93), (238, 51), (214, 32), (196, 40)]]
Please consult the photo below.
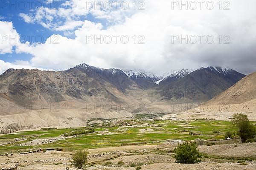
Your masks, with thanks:
[(74, 153), (72, 155), (72, 161), (71, 163), (73, 164), (73, 166), (77, 167), (78, 169), (82, 169), (82, 167), (84, 166), (84, 164), (87, 163), (87, 151), (83, 151), (83, 150), (78, 150), (76, 151), (76, 153)]

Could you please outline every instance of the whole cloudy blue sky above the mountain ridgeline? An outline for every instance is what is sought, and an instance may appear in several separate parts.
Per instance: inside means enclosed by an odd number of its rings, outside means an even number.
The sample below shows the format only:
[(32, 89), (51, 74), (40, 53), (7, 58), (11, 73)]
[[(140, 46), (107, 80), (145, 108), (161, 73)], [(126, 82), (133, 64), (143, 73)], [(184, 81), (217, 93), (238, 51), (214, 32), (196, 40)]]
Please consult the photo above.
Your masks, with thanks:
[(256, 71), (255, 0), (1, 0), (0, 69)]

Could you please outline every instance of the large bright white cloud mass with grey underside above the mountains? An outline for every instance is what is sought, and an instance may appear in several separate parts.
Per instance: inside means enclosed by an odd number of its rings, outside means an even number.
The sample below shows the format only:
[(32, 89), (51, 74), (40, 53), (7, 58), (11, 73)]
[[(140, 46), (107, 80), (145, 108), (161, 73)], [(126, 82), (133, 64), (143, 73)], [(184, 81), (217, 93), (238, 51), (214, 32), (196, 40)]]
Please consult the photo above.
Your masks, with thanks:
[[(81, 4), (81, 6), (78, 6)], [(248, 5), (250, 4), (250, 5)], [(34, 67), (67, 69), (81, 62), (102, 68), (144, 69), (151, 72), (167, 72), (171, 69), (199, 68), (207, 65), (227, 66), (245, 74), (256, 71), (256, 11), (255, 1), (233, 0), (230, 10), (220, 10), (215, 4), (213, 10), (203, 6), (203, 10), (172, 10), (172, 1), (147, 0), (145, 10), (111, 12), (95, 11), (95, 17), (111, 18), (113, 14), (124, 14), (122, 22), (94, 23), (85, 20), (83, 25), (74, 31), (74, 39), (61, 35), (52, 35), (49, 39), (58, 43), (23, 44), (17, 52), (32, 54), (30, 61)], [(67, 9), (60, 9), (63, 15), (86, 15), (84, 3), (72, 0), (66, 3)], [(199, 7), (198, 7), (199, 8)], [(76, 9), (76, 10), (75, 10)], [(74, 11), (75, 10), (75, 11)], [(55, 13), (53, 13), (55, 14)], [(57, 14), (58, 15), (58, 14)], [(43, 16), (43, 15), (42, 15)], [(73, 17), (69, 16), (70, 19)], [(38, 16), (40, 17), (40, 15)], [(119, 17), (116, 15), (116, 17)], [(55, 27), (54, 23), (49, 28)], [(72, 28), (72, 27), (70, 27)], [(64, 27), (63, 27), (63, 30)], [(67, 30), (67, 29), (66, 29)], [(87, 36), (119, 35), (117, 43), (87, 43)], [(127, 35), (127, 44), (120, 42), (120, 37)], [(143, 35), (143, 37), (139, 37)], [(194, 44), (186, 40), (172, 41), (173, 36), (182, 38), (195, 35), (198, 41)], [(198, 35), (204, 35), (200, 43)], [(226, 36), (227, 37), (226, 37)], [(134, 36), (136, 43), (134, 43)], [(214, 37), (209, 43), (207, 36)], [(221, 38), (221, 43), (220, 43)], [(144, 44), (138, 44), (143, 40)], [(227, 40), (229, 44), (224, 44)], [(189, 41), (189, 40), (188, 40)], [(241, 64), (243, 63), (243, 64)]]

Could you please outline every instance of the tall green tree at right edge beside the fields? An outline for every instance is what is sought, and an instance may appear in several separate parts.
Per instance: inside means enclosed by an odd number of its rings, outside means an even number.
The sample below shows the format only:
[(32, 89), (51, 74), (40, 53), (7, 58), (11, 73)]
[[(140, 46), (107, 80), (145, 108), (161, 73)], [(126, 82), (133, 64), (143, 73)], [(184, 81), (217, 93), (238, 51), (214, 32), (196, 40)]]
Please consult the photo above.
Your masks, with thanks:
[(256, 135), (256, 128), (250, 124), (247, 115), (237, 113), (232, 117), (232, 122), (238, 127), (238, 135), (244, 143), (247, 139), (253, 139)]

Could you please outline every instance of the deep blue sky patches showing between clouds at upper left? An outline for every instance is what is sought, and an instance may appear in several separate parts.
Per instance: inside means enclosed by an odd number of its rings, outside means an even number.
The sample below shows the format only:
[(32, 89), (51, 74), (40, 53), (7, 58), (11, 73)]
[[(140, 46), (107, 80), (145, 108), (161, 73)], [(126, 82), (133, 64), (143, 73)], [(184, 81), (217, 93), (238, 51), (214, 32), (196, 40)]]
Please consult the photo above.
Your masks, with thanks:
[[(48, 37), (52, 34), (64, 35), (64, 31), (56, 31), (49, 28), (45, 28), (39, 23), (26, 23), (20, 14), (34, 14), (36, 10), (40, 8), (58, 9), (61, 7), (65, 0), (57, 0), (48, 2), (47, 0), (1, 0), (0, 3), (0, 20), (12, 22), (14, 28), (20, 34), (20, 41), (30, 43), (44, 43)], [(56, 21), (60, 20), (64, 22), (64, 19), (56, 18)], [(93, 22), (101, 22), (88, 14), (87, 16), (80, 16), (78, 20), (90, 20)], [(102, 22), (104, 24), (104, 22)], [(72, 30), (71, 30), (72, 31)], [(74, 35), (68, 35), (69, 38), (74, 38)], [(0, 59), (5, 62), (14, 62), (15, 60), (25, 60), (29, 61), (32, 58), (31, 54), (21, 53), (17, 54), (15, 52), (15, 47), (13, 47), (12, 53), (0, 54)]]

